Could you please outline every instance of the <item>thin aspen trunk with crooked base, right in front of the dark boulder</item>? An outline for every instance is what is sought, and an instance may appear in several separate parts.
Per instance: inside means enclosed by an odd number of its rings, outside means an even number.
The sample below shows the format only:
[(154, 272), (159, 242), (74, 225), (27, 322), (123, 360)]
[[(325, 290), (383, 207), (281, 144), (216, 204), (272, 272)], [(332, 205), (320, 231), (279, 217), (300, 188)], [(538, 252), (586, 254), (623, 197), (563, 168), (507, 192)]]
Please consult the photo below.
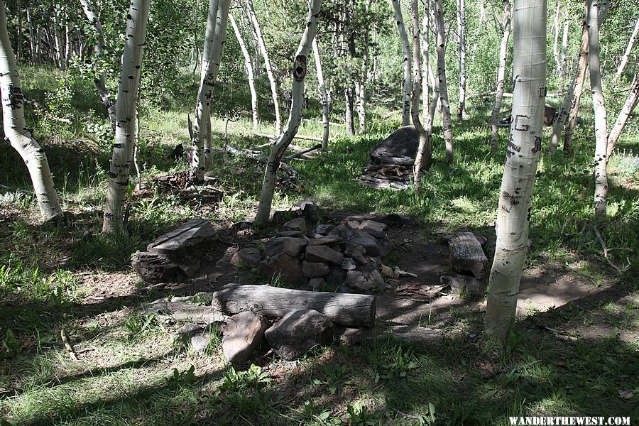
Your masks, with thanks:
[(422, 168), (430, 168), (432, 149), (430, 138), (420, 120), (420, 91), (422, 89), (422, 69), (420, 65), (420, 9), (419, 0), (411, 2), (413, 15), (413, 126), (420, 135), (420, 143), (415, 153), (415, 163), (413, 164), (413, 183), (415, 194), (422, 192)]

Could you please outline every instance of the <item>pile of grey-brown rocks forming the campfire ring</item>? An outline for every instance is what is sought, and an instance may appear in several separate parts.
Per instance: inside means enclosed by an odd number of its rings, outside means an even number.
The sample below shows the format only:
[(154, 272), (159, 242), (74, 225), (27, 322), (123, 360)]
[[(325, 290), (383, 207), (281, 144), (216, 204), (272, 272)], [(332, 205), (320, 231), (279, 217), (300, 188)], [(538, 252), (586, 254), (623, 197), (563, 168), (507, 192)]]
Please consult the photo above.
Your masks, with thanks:
[(283, 225), (283, 230), (256, 247), (237, 251), (234, 265), (258, 268), (272, 278), (281, 274), (290, 285), (313, 289), (342, 288), (346, 292), (385, 290), (379, 273), (381, 258), (392, 248), (386, 224), (372, 220), (347, 220), (337, 226), (319, 224), (309, 229), (303, 217)]

